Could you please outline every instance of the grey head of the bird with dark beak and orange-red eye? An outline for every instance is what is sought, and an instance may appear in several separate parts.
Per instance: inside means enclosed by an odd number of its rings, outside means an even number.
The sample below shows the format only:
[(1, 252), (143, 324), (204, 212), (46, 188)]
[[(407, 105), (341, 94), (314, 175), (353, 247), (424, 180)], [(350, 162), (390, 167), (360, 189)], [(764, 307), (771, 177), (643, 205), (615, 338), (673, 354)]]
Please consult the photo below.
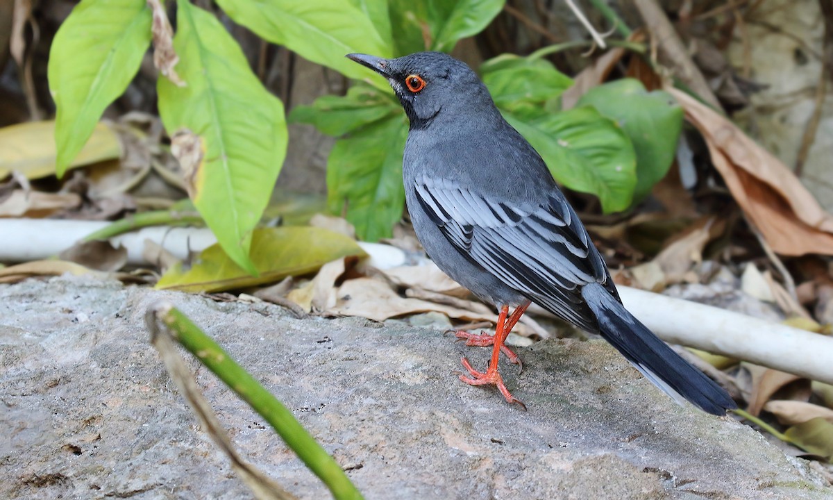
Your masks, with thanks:
[(387, 78), (411, 120), (411, 128), (425, 128), (441, 115), (467, 116), (463, 111), (494, 108), (476, 73), (446, 53), (416, 52), (396, 59), (367, 54), (347, 57)]

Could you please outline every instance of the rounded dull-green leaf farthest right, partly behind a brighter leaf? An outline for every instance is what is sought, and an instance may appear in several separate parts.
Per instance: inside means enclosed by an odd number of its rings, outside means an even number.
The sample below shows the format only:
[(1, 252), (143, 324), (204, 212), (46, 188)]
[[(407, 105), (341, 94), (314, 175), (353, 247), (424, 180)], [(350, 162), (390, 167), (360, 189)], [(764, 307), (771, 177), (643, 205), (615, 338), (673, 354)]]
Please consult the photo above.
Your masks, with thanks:
[(647, 92), (639, 80), (625, 78), (591, 88), (578, 105), (596, 107), (619, 124), (636, 151), (634, 202), (668, 173), (682, 130), (682, 107), (668, 92)]

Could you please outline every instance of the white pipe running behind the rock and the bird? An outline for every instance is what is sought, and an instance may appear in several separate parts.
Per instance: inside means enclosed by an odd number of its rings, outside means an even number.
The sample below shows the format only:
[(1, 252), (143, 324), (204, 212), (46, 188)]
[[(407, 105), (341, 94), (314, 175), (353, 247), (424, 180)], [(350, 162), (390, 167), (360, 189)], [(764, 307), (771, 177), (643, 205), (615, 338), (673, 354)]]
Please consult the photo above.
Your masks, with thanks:
[[(95, 221), (0, 219), (0, 262), (50, 258), (81, 238), (107, 226)], [(216, 242), (205, 228), (142, 228), (112, 238), (127, 248), (133, 264), (144, 262), (142, 249), (150, 239), (177, 258)], [(402, 265), (404, 253), (387, 245), (360, 243), (378, 267)], [(731, 313), (679, 298), (635, 288), (618, 287), (626, 308), (669, 343), (743, 359), (802, 377), (833, 384), (833, 338)]]

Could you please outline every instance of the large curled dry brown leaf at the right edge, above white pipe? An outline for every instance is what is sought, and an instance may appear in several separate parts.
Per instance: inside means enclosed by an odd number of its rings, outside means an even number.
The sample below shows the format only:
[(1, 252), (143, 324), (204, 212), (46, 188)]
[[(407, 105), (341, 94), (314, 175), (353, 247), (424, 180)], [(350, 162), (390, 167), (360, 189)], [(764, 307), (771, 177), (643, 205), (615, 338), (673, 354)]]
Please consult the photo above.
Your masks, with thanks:
[(833, 215), (796, 176), (734, 123), (685, 92), (666, 87), (700, 131), (732, 196), (776, 253), (833, 255)]

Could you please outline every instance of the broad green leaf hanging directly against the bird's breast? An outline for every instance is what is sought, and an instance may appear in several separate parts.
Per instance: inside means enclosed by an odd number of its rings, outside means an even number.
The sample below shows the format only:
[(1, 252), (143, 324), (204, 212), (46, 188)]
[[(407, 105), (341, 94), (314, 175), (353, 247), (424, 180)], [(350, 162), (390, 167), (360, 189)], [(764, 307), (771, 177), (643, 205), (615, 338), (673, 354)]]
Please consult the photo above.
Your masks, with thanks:
[(392, 235), (402, 218), (402, 152), (407, 138), (404, 113), (361, 128), (333, 146), (327, 160), (327, 203), (332, 213), (347, 211), (359, 238)]

